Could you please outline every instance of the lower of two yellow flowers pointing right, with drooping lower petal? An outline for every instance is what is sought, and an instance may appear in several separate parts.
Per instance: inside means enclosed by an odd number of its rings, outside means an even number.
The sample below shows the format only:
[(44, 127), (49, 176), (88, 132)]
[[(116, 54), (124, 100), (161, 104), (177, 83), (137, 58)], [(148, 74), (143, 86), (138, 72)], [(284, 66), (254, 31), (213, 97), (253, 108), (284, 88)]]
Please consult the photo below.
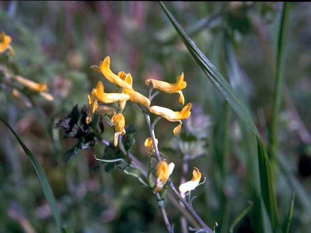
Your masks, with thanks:
[(153, 114), (163, 116), (169, 121), (179, 121), (179, 125), (173, 129), (174, 136), (176, 136), (181, 131), (182, 119), (186, 119), (190, 116), (191, 103), (188, 103), (180, 112), (174, 112), (169, 108), (164, 108), (160, 106), (151, 106), (149, 111)]

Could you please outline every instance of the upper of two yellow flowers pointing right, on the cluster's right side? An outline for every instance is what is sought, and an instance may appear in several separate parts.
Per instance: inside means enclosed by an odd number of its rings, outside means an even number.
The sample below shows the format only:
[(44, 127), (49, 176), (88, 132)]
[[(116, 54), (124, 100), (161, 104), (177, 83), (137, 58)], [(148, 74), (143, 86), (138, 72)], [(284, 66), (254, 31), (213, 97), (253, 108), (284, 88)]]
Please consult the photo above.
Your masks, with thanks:
[(179, 102), (182, 104), (185, 103), (185, 98), (181, 91), (187, 86), (187, 82), (184, 81), (184, 72), (182, 72), (181, 75), (177, 77), (176, 83), (166, 83), (155, 79), (147, 79), (145, 83), (146, 85), (149, 85), (150, 82), (152, 82), (155, 89), (160, 91), (166, 93), (179, 93)]

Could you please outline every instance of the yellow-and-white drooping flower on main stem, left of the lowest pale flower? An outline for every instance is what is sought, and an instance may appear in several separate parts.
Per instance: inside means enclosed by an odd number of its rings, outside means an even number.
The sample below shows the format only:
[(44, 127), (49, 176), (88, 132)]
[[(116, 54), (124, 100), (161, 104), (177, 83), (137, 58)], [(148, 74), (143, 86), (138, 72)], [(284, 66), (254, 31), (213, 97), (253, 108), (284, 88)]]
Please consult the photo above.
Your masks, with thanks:
[(161, 161), (157, 164), (155, 171), (155, 175), (157, 176), (156, 187), (154, 188), (153, 193), (156, 193), (163, 188), (172, 174), (174, 167), (174, 163), (167, 164), (166, 161)]

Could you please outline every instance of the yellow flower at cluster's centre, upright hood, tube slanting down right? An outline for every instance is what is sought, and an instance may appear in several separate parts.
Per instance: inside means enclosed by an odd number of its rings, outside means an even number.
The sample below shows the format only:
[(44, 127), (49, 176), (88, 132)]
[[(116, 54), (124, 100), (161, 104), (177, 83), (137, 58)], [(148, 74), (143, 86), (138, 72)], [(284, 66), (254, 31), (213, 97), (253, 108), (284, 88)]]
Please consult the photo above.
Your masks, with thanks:
[(123, 90), (125, 94), (130, 96), (131, 101), (138, 102), (138, 103), (140, 103), (146, 107), (150, 106), (150, 100), (147, 97), (141, 95), (137, 91), (134, 91), (134, 89), (133, 89), (133, 78), (132, 78), (130, 73), (125, 74), (124, 71), (120, 71), (118, 73), (118, 76), (131, 86), (130, 89), (124, 89)]

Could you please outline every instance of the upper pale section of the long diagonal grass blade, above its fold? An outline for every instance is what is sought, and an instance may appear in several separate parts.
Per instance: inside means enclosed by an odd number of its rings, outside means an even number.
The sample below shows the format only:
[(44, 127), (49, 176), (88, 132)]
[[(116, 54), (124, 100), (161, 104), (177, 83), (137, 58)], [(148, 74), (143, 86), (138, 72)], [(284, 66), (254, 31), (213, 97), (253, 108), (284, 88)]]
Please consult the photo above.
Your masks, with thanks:
[(160, 5), (162, 6), (164, 12), (171, 20), (174, 28), (177, 33), (181, 37), (182, 41), (186, 45), (187, 49), (190, 51), (192, 57), (198, 63), (198, 65), (202, 68), (203, 72), (207, 75), (208, 79), (216, 86), (219, 92), (224, 96), (224, 98), (228, 101), (228, 103), (232, 106), (232, 108), (236, 111), (236, 113), (242, 118), (242, 120), (248, 125), (248, 127), (257, 135), (259, 133), (257, 128), (250, 116), (248, 109), (246, 108), (243, 101), (237, 95), (237, 93), (233, 90), (230, 84), (225, 80), (225, 78), (219, 73), (216, 67), (211, 64), (211, 62), (207, 59), (207, 57), (198, 49), (198, 47), (193, 43), (190, 37), (185, 33), (182, 27), (175, 20), (173, 15), (168, 11), (168, 9), (164, 6), (164, 4), (160, 1)]

